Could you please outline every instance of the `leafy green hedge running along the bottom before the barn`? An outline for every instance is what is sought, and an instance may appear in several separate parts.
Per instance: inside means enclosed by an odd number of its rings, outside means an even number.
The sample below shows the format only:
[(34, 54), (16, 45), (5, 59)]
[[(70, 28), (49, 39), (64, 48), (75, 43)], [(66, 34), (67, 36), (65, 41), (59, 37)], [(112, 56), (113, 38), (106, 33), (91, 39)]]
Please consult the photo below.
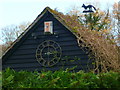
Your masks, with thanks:
[(66, 71), (2, 72), (2, 88), (115, 88), (120, 87), (120, 72), (94, 74)]

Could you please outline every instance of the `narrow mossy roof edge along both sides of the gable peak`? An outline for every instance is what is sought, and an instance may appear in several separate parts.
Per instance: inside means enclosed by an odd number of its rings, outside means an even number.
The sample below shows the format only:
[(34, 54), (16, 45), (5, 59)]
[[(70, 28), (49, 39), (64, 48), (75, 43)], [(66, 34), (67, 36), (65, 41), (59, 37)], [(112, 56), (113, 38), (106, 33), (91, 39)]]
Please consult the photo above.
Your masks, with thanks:
[[(17, 39), (12, 43), (10, 47), (4, 52), (2, 55), (2, 58), (19, 42), (23, 36), (26, 35), (26, 33), (38, 22), (38, 20), (47, 12), (49, 11), (60, 23), (62, 23), (70, 32), (72, 32), (72, 29), (66, 24), (64, 18), (62, 18), (59, 14), (59, 12), (51, 9), (50, 7), (45, 7), (44, 10), (35, 18), (35, 20), (25, 29), (24, 32), (22, 32)], [(72, 32), (73, 33), (73, 32)], [(74, 33), (73, 33), (74, 34)], [(74, 34), (75, 35), (75, 34)], [(76, 35), (75, 35), (76, 36)]]

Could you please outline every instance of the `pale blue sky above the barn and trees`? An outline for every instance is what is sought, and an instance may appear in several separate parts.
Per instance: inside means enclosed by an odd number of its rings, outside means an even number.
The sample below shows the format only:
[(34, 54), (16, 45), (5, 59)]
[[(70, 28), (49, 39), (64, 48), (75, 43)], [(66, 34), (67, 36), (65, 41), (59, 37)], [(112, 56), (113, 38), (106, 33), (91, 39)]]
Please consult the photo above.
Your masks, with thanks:
[[(0, 0), (0, 35), (1, 28), (8, 25), (19, 25), (23, 22), (33, 22), (42, 10), (49, 6), (52, 9), (66, 13), (73, 6), (82, 8), (82, 4), (95, 4), (96, 8), (111, 8), (119, 0)], [(2, 41), (0, 40), (0, 43)]]

